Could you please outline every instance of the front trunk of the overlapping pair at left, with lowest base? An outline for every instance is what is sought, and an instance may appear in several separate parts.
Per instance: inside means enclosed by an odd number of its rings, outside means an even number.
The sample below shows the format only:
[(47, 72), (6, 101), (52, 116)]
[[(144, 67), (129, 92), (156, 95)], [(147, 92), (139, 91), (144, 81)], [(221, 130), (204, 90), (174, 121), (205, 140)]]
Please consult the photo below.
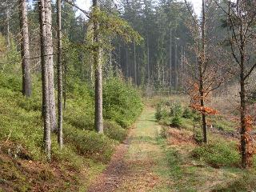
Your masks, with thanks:
[(49, 106), (49, 78), (48, 66), (46, 62), (46, 21), (45, 21), (45, 1), (38, 2), (40, 19), (40, 37), (41, 37), (41, 63), (42, 63), (42, 115), (44, 122), (44, 148), (47, 159), (50, 160), (50, 106)]

